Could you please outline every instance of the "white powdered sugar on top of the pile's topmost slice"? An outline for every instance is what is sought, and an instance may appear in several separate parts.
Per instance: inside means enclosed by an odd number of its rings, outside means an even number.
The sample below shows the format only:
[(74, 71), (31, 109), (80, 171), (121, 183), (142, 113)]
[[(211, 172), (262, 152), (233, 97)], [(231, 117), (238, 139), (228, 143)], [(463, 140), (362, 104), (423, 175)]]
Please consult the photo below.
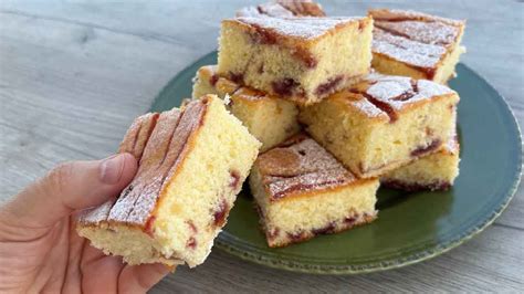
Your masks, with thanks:
[(337, 25), (358, 21), (363, 18), (238, 18), (237, 20), (258, 29), (284, 36), (301, 39), (318, 38)]

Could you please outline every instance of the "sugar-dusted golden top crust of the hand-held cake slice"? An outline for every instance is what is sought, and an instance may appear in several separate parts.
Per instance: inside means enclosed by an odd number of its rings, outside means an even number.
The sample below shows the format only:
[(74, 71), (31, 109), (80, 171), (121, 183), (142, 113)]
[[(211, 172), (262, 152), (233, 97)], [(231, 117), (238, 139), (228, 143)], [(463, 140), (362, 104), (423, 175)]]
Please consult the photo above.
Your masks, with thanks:
[[(147, 231), (154, 221), (154, 211), (159, 199), (165, 193), (165, 183), (176, 176), (185, 155), (191, 149), (190, 137), (193, 137), (201, 126), (206, 107), (206, 99), (195, 101), (184, 113), (174, 108), (160, 114), (139, 158), (138, 171), (133, 181), (116, 201), (109, 200), (84, 213), (78, 220), (80, 225), (99, 225), (106, 222)], [(136, 134), (133, 129), (132, 126), (128, 135)], [(123, 141), (130, 140), (133, 138), (126, 136)]]

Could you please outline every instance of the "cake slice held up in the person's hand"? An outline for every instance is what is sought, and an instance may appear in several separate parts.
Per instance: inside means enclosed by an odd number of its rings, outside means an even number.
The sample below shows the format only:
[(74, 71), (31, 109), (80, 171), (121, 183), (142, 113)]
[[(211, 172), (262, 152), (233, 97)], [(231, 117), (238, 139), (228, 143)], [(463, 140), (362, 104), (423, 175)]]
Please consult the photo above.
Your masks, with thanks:
[(140, 117), (120, 146), (136, 150), (134, 180), (117, 199), (86, 211), (77, 231), (129, 264), (196, 266), (210, 253), (259, 147), (213, 95)]

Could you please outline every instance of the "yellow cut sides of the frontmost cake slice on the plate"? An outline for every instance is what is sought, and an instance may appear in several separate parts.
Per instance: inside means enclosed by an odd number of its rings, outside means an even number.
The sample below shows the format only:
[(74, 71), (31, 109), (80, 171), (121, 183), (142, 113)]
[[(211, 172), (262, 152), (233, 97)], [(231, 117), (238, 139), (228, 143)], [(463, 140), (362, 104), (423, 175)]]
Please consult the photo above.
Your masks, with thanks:
[[(256, 168), (250, 175), (251, 192), (261, 211), (270, 246), (282, 246), (290, 242), (290, 235), (303, 240), (315, 235), (315, 230), (331, 225), (332, 232), (370, 222), (376, 217), (377, 179), (356, 182), (332, 189), (311, 190), (271, 201)], [(352, 223), (345, 224), (354, 218)]]

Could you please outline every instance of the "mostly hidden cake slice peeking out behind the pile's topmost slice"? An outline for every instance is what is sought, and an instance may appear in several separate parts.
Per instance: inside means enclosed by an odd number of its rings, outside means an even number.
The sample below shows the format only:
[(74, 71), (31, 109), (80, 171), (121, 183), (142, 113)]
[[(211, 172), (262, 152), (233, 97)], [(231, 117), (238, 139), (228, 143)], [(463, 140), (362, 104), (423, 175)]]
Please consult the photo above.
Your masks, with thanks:
[(325, 17), (322, 6), (311, 0), (276, 0), (237, 11), (237, 17)]

